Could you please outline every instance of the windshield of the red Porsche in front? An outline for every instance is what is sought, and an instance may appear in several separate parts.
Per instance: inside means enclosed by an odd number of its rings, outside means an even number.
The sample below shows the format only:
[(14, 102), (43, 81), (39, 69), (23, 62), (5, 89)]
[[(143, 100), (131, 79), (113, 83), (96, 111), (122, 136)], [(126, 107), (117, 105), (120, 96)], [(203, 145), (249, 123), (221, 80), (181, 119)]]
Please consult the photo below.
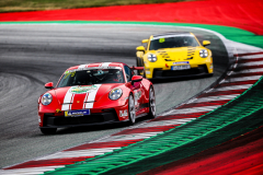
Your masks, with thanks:
[(119, 67), (114, 69), (87, 68), (65, 72), (57, 88), (124, 82), (123, 71)]

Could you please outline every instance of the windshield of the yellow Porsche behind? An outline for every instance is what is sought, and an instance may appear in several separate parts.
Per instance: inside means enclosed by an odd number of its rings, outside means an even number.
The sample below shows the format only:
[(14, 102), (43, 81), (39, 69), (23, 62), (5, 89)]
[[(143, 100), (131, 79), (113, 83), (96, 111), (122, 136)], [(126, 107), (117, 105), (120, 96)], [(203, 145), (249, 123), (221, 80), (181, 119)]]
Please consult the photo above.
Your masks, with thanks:
[(150, 50), (158, 50), (161, 48), (175, 48), (175, 47), (196, 47), (198, 43), (194, 36), (172, 36), (172, 37), (158, 37), (153, 38), (150, 43)]

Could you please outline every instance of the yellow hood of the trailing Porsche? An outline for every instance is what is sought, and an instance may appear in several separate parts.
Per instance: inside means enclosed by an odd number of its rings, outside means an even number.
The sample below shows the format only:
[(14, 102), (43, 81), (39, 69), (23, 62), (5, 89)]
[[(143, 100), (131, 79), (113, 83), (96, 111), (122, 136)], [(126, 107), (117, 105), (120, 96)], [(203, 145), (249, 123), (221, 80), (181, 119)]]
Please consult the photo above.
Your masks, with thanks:
[(182, 61), (192, 59), (195, 52), (199, 50), (199, 47), (180, 47), (180, 48), (164, 48), (159, 50), (151, 50), (149, 54), (157, 55), (158, 58), (162, 58), (171, 61)]

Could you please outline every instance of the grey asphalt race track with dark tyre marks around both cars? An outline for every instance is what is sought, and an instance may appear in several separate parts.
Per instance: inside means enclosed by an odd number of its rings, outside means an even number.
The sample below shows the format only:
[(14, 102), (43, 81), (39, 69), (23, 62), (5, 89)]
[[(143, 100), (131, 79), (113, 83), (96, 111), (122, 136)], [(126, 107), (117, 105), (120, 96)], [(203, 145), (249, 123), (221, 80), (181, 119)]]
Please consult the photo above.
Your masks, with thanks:
[[(127, 126), (106, 125), (59, 129), (44, 136), (38, 129), (37, 98), (44, 84), (57, 82), (71, 66), (118, 61), (136, 63), (135, 48), (150, 34), (188, 31), (209, 39), (214, 77), (155, 82), (157, 113), (194, 96), (227, 68), (228, 54), (214, 34), (171, 26), (137, 25), (1, 25), (0, 26), (0, 167), (98, 140)], [(144, 122), (141, 118), (137, 124)]]

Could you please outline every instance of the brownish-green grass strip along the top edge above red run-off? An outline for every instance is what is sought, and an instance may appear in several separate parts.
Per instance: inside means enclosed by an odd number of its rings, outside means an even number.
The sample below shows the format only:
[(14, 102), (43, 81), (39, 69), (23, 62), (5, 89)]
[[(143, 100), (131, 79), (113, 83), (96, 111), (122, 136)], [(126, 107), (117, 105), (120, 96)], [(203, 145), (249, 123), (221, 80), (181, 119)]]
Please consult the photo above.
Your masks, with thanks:
[(0, 12), (77, 9), (179, 1), (190, 0), (0, 0)]

